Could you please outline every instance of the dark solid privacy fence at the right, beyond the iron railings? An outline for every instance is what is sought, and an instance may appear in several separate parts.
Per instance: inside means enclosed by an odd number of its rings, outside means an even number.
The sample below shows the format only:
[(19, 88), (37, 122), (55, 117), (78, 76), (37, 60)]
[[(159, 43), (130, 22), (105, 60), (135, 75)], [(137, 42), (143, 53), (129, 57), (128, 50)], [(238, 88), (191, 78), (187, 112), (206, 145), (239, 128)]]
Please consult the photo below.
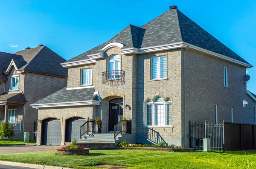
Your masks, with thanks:
[(256, 125), (224, 123), (225, 151), (256, 149)]

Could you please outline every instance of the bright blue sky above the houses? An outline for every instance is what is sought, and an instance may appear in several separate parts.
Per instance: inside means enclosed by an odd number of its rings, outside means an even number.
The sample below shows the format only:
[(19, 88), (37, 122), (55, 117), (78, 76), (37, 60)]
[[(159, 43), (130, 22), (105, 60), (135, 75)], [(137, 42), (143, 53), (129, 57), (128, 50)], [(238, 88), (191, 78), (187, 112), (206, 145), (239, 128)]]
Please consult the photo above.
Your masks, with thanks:
[(0, 0), (0, 51), (43, 44), (68, 60), (172, 5), (255, 66), (247, 88), (256, 93), (255, 0)]

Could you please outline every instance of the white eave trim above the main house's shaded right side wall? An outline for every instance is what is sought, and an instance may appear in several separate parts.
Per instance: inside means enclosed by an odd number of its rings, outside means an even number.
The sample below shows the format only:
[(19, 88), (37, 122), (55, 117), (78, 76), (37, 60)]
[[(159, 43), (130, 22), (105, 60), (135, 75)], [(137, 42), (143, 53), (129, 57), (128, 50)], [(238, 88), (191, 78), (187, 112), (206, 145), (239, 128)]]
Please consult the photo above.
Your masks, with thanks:
[(246, 67), (246, 68), (252, 68), (252, 67), (253, 67), (253, 65), (250, 65), (250, 64), (241, 62), (241, 61), (239, 61), (239, 60), (236, 60), (236, 59), (233, 59), (233, 58), (230, 58), (230, 57), (221, 55), (221, 54), (217, 54), (217, 53), (215, 53), (215, 52), (209, 51), (209, 50), (204, 49), (204, 48), (200, 48), (200, 47), (195, 46), (195, 45), (191, 45), (191, 44), (186, 43), (186, 42), (184, 42), (184, 44), (185, 44), (185, 45), (189, 45), (190, 48), (193, 48), (193, 49), (195, 49), (195, 50), (202, 51), (202, 52), (204, 52), (204, 53), (207, 53), (207, 54), (210, 54), (210, 55), (213, 55), (213, 56), (217, 56), (217, 57), (219, 57), (219, 58), (221, 58), (221, 59), (225, 59), (225, 60), (228, 60), (228, 61), (230, 61), (230, 62), (233, 62), (233, 63), (239, 64), (239, 65), (242, 65), (242, 66), (244, 66), (244, 67)]

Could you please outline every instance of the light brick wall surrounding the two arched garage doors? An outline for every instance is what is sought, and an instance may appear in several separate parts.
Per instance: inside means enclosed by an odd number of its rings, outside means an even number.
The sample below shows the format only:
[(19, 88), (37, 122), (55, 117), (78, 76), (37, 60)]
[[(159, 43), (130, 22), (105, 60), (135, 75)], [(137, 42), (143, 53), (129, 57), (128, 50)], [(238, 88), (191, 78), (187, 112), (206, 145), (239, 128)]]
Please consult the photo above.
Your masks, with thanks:
[[(52, 107), (39, 108), (38, 118), (44, 120), (46, 118), (58, 118), (61, 120), (61, 142), (65, 141), (65, 125), (66, 120), (72, 117), (90, 118), (96, 115), (96, 106), (80, 106), (80, 107)], [(41, 123), (38, 123), (37, 144), (41, 142)]]

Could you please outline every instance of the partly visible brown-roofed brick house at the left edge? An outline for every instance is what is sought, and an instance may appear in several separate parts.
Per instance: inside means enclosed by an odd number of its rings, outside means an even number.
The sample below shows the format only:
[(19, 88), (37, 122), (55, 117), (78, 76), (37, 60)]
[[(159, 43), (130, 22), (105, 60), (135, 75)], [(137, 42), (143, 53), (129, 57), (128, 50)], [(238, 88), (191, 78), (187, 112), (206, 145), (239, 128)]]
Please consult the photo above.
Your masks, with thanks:
[(0, 52), (0, 121), (12, 123), (14, 139), (34, 139), (38, 110), (30, 104), (67, 85), (61, 56), (44, 45), (15, 54)]

